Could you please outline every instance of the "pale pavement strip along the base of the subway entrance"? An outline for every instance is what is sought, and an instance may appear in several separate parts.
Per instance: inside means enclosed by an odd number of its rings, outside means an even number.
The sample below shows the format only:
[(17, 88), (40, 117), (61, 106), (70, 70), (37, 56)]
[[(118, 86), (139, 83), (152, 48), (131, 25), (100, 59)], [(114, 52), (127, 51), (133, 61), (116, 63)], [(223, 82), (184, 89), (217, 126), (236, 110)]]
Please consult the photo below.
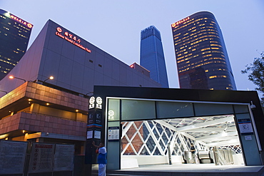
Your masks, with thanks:
[(178, 164), (152, 165), (123, 170), (108, 170), (108, 175), (151, 176), (264, 176), (264, 166)]

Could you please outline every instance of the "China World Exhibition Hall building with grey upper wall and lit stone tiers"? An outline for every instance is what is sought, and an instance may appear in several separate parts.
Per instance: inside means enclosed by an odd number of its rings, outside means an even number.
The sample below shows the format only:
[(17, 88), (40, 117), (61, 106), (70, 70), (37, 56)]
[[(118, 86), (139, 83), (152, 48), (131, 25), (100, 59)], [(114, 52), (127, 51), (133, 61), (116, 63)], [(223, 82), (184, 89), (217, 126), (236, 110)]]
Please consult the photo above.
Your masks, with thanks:
[(76, 154), (84, 154), (88, 97), (94, 85), (161, 87), (47, 21), (21, 61), (0, 81), (0, 139), (75, 144)]

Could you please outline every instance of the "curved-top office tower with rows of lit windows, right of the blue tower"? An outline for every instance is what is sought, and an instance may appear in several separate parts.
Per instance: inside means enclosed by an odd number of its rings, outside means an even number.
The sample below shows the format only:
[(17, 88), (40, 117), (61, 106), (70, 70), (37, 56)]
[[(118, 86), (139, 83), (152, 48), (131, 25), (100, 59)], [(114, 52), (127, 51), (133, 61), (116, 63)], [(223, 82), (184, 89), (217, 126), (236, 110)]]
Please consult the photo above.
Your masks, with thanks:
[(212, 13), (200, 11), (171, 27), (181, 88), (236, 90), (223, 35)]

